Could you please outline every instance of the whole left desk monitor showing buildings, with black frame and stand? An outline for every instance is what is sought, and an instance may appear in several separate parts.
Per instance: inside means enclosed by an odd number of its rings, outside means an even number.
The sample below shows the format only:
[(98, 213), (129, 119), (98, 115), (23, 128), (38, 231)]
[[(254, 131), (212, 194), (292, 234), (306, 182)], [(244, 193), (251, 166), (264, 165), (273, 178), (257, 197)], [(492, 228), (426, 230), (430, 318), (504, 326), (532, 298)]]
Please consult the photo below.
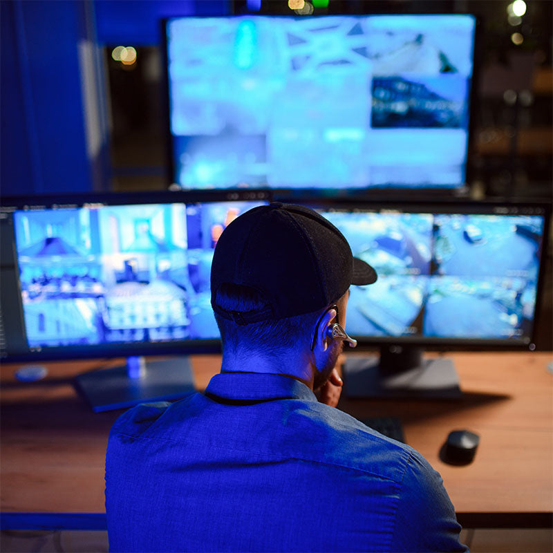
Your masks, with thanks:
[[(79, 379), (97, 410), (182, 395), (185, 361), (140, 374), (139, 357), (220, 350), (214, 248), (234, 218), (267, 200), (263, 191), (3, 198), (1, 357), (129, 357), (124, 371)], [(133, 397), (111, 393), (120, 384)]]

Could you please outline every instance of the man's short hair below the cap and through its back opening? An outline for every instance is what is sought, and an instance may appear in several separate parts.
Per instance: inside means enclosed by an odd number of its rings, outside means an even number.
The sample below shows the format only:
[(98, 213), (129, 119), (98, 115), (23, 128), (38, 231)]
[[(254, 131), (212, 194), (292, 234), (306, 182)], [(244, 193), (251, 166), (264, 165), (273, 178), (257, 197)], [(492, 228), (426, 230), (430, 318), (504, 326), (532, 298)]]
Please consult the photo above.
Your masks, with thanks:
[[(263, 309), (267, 301), (254, 288), (225, 283), (217, 290), (216, 303), (225, 310), (244, 312)], [(320, 312), (312, 312), (240, 325), (215, 313), (223, 349), (263, 351), (268, 356), (294, 348), (299, 342), (309, 347), (318, 317)]]

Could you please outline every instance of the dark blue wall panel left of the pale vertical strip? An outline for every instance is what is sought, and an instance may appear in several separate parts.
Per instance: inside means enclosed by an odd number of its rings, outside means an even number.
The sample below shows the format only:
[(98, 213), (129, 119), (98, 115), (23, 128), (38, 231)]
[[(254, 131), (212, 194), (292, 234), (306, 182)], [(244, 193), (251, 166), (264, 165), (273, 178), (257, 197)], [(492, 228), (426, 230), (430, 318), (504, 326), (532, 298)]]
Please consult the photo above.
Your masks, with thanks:
[(77, 52), (88, 6), (6, 1), (0, 10), (2, 194), (91, 189)]

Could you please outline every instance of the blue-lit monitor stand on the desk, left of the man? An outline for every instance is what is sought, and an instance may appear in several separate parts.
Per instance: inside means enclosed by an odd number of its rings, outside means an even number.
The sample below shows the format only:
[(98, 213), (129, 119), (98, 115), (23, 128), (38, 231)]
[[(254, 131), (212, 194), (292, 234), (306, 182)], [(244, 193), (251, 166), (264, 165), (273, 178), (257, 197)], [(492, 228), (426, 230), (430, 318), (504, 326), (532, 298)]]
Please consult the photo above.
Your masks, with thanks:
[(144, 357), (127, 357), (124, 366), (78, 375), (75, 387), (95, 413), (144, 402), (179, 400), (195, 391), (186, 356), (149, 362)]

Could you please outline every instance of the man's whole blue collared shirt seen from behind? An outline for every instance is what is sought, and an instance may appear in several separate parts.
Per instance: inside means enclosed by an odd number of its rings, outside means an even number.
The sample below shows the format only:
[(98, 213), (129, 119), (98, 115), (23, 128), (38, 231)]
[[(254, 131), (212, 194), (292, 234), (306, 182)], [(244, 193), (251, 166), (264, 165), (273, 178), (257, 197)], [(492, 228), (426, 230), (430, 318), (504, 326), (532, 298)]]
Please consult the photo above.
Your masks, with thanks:
[(420, 453), (274, 374), (126, 411), (106, 513), (112, 552), (467, 551)]

